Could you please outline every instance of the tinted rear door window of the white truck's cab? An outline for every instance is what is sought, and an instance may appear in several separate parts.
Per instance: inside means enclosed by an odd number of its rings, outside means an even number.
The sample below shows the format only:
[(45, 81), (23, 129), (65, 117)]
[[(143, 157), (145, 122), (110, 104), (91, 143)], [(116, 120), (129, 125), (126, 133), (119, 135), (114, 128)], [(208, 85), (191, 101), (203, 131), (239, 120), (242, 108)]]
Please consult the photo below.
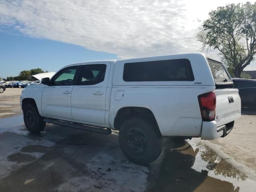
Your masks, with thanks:
[(104, 81), (106, 64), (84, 65), (78, 85), (95, 85)]

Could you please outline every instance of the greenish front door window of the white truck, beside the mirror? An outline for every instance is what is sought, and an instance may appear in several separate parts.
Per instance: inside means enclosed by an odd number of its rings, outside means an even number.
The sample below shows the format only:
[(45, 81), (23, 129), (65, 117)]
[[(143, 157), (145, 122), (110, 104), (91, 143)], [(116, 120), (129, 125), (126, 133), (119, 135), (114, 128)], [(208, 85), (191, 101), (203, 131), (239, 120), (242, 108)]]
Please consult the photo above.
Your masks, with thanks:
[(77, 67), (68, 67), (60, 72), (58, 72), (53, 80), (52, 85), (53, 86), (65, 86), (65, 85), (74, 85), (74, 77), (77, 71)]

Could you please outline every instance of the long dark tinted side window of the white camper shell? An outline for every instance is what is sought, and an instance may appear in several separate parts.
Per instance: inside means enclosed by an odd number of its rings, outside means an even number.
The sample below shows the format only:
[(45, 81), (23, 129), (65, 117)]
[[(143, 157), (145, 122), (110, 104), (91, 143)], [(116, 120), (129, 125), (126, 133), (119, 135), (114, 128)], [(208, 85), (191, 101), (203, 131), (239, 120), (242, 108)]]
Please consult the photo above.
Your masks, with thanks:
[(188, 59), (135, 62), (124, 64), (124, 81), (194, 81)]

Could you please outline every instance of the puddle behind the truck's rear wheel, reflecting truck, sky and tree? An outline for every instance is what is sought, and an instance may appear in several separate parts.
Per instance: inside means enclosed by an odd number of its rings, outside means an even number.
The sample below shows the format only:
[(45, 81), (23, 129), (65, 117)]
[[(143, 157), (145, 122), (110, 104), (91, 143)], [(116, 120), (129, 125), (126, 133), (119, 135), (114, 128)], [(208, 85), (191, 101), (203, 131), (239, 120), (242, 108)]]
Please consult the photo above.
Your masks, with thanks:
[(255, 181), (198, 141), (165, 140), (161, 157), (150, 166), (146, 191), (255, 191)]

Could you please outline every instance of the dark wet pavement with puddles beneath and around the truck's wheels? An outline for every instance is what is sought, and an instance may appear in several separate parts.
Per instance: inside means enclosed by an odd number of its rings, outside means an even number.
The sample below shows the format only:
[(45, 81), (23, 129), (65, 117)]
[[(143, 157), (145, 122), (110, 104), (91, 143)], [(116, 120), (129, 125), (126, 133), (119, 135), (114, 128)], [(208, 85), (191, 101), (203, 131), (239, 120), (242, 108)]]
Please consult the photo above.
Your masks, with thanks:
[(256, 182), (199, 139), (164, 139), (149, 166), (129, 162), (108, 136), (47, 124), (26, 131), (22, 116), (0, 119), (0, 192), (255, 192)]

